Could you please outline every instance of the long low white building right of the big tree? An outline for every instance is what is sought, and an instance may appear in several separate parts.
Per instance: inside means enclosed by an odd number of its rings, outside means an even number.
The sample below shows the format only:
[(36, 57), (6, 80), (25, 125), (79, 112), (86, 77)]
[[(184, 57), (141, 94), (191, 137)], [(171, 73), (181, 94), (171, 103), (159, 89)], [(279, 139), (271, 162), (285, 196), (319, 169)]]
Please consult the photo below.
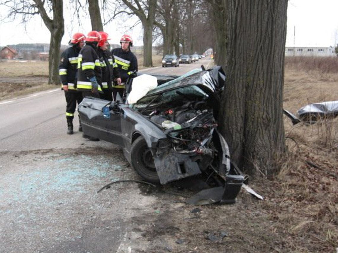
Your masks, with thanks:
[(334, 47), (286, 47), (285, 56), (336, 56)]

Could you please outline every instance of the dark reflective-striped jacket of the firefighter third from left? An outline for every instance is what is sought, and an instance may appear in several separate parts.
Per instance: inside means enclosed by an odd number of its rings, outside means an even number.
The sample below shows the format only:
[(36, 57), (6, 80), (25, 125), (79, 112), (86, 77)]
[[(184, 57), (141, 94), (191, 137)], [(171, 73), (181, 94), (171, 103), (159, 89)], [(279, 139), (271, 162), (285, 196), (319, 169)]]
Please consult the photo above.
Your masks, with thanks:
[(109, 50), (103, 51), (100, 48), (98, 49), (98, 55), (102, 70), (102, 88), (104, 90), (111, 89), (113, 80), (120, 77), (117, 64), (114, 62), (114, 56)]

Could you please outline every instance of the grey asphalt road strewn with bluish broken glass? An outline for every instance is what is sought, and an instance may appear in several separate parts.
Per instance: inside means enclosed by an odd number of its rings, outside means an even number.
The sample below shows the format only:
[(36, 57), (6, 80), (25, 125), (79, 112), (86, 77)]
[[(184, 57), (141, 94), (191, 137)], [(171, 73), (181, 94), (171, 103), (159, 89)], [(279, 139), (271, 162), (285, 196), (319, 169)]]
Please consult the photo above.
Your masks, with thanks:
[[(181, 75), (210, 62), (144, 72)], [(65, 109), (59, 89), (0, 102), (0, 252), (147, 252), (131, 224), (163, 200), (132, 182), (97, 193), (140, 178), (119, 147), (82, 138), (77, 117), (67, 135)]]

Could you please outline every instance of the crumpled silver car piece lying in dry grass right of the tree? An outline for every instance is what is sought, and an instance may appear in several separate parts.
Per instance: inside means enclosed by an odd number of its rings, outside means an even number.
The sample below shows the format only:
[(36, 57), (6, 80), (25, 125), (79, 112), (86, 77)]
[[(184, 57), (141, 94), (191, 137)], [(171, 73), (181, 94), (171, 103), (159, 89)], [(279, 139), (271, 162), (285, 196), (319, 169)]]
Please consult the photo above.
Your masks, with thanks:
[(338, 101), (309, 104), (301, 107), (297, 114), (301, 120), (308, 123), (318, 119), (335, 118), (338, 116)]

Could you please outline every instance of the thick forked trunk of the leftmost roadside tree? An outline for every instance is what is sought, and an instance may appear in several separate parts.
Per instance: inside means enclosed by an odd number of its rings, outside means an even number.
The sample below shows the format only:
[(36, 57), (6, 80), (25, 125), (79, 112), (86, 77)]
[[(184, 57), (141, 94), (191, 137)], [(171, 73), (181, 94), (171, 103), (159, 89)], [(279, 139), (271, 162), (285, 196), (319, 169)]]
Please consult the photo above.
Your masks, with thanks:
[(59, 58), (61, 40), (65, 32), (64, 18), (63, 18), (63, 1), (52, 0), (52, 10), (54, 19), (50, 19), (44, 8), (41, 0), (34, 0), (37, 5), (40, 15), (46, 27), (50, 31), (50, 44), (49, 44), (49, 62), (48, 62), (48, 83), (60, 84), (59, 80)]

